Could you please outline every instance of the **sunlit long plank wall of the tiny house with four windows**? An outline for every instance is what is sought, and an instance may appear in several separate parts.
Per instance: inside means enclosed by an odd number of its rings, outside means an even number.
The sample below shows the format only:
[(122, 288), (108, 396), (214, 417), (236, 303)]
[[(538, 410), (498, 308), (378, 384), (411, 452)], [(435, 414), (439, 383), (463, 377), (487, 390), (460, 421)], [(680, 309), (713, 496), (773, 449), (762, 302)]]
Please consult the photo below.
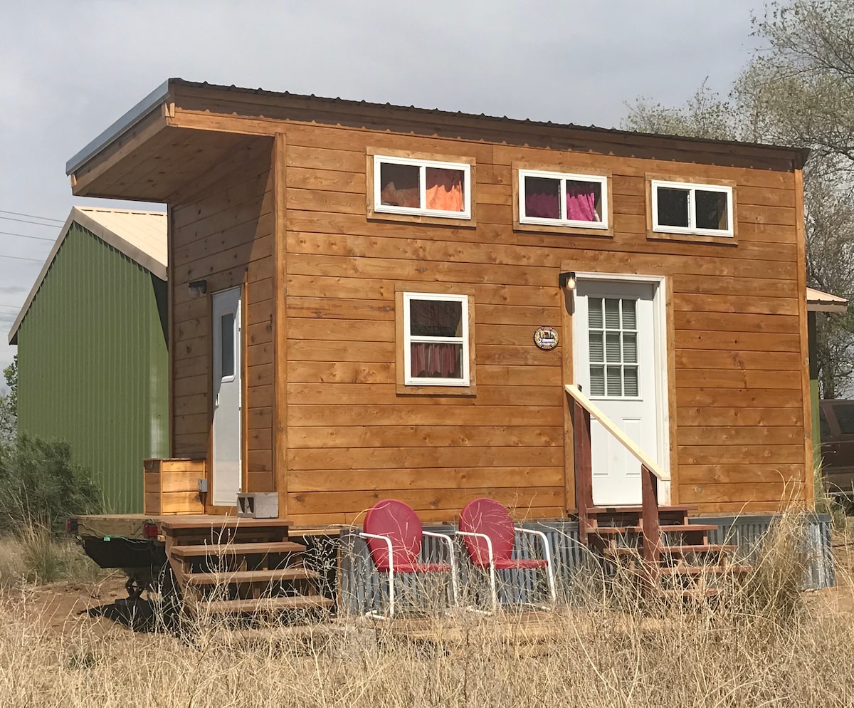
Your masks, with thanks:
[[(396, 497), (451, 519), (479, 495), (519, 517), (564, 510), (560, 262), (671, 277), (672, 498), (700, 511), (804, 499), (792, 173), (289, 123), (289, 516), (358, 522)], [(366, 217), (366, 149), (474, 157), (477, 228)], [(684, 156), (684, 153), (681, 153)], [(512, 164), (613, 174), (613, 238), (516, 232)], [(646, 238), (646, 174), (734, 180), (739, 243)], [(477, 397), (395, 392), (395, 283), (475, 292)], [(563, 335), (564, 333), (560, 333)], [(266, 370), (266, 369), (265, 369)]]

